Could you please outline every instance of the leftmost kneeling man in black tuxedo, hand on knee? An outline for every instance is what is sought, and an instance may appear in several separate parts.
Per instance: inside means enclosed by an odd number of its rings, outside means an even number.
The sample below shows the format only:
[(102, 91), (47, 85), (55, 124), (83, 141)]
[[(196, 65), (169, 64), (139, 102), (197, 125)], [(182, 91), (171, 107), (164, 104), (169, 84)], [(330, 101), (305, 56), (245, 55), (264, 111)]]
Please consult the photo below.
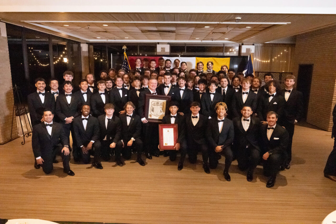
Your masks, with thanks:
[(74, 176), (69, 166), (69, 138), (65, 135), (62, 125), (52, 121), (53, 117), (53, 112), (45, 109), (43, 123), (34, 126), (32, 148), (36, 162), (42, 166), (44, 173), (50, 174), (54, 157), (59, 154), (63, 160), (63, 172)]

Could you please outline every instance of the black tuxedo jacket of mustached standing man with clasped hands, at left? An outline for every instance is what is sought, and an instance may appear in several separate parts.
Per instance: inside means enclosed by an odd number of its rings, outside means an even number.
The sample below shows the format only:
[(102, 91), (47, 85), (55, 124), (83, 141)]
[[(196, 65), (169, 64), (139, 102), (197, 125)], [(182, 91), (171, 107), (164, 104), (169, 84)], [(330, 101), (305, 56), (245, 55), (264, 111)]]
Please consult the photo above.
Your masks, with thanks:
[(70, 104), (68, 104), (65, 94), (58, 95), (56, 98), (56, 115), (60, 122), (64, 122), (67, 117), (73, 116), (74, 118), (81, 115), (82, 100), (77, 94), (73, 94)]

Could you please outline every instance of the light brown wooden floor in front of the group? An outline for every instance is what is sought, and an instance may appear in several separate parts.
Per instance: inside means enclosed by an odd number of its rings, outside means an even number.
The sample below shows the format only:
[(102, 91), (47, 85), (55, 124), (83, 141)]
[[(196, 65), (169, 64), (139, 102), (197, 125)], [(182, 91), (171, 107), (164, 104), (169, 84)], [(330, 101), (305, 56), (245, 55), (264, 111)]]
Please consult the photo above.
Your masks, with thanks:
[[(31, 137), (0, 146), (0, 218), (115, 223), (321, 223), (336, 210), (336, 182), (323, 176), (332, 150), (331, 133), (296, 126), (290, 170), (266, 188), (262, 167), (246, 181), (237, 161), (231, 182), (219, 167), (204, 173), (187, 159), (182, 171), (169, 157), (154, 157), (140, 166), (102, 162), (103, 170), (73, 164), (66, 176), (62, 163), (51, 175), (33, 166)], [(57, 157), (60, 161), (60, 157)], [(336, 220), (335, 220), (336, 221)]]

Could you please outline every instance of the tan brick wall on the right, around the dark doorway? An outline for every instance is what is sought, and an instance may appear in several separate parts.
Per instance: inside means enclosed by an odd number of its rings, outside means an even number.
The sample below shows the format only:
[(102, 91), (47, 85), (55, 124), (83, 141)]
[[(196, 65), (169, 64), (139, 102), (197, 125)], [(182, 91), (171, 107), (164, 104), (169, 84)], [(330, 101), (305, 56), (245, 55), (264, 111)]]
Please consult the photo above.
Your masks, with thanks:
[(307, 122), (331, 131), (336, 103), (336, 26), (296, 37), (293, 74), (299, 64), (313, 64)]

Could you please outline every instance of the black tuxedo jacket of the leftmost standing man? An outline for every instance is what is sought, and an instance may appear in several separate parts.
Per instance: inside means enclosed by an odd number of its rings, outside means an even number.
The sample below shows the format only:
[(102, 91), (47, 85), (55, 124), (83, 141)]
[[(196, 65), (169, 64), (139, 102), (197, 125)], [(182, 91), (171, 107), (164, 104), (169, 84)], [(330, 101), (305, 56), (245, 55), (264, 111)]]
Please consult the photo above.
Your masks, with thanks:
[(50, 109), (55, 112), (55, 97), (51, 92), (44, 91), (44, 102), (42, 104), (41, 98), (37, 90), (28, 95), (28, 108), (32, 126), (41, 123), (44, 109)]

